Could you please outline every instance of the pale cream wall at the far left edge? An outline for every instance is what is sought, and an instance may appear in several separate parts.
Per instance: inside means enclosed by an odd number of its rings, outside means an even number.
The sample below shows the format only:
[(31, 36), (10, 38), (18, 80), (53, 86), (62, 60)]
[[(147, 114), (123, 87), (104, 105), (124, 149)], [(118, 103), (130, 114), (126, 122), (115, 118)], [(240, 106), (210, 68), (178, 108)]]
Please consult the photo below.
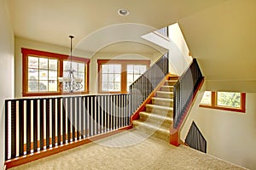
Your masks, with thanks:
[(4, 163), (4, 99), (14, 97), (14, 45), (15, 36), (9, 18), (7, 0), (0, 0), (0, 170)]

